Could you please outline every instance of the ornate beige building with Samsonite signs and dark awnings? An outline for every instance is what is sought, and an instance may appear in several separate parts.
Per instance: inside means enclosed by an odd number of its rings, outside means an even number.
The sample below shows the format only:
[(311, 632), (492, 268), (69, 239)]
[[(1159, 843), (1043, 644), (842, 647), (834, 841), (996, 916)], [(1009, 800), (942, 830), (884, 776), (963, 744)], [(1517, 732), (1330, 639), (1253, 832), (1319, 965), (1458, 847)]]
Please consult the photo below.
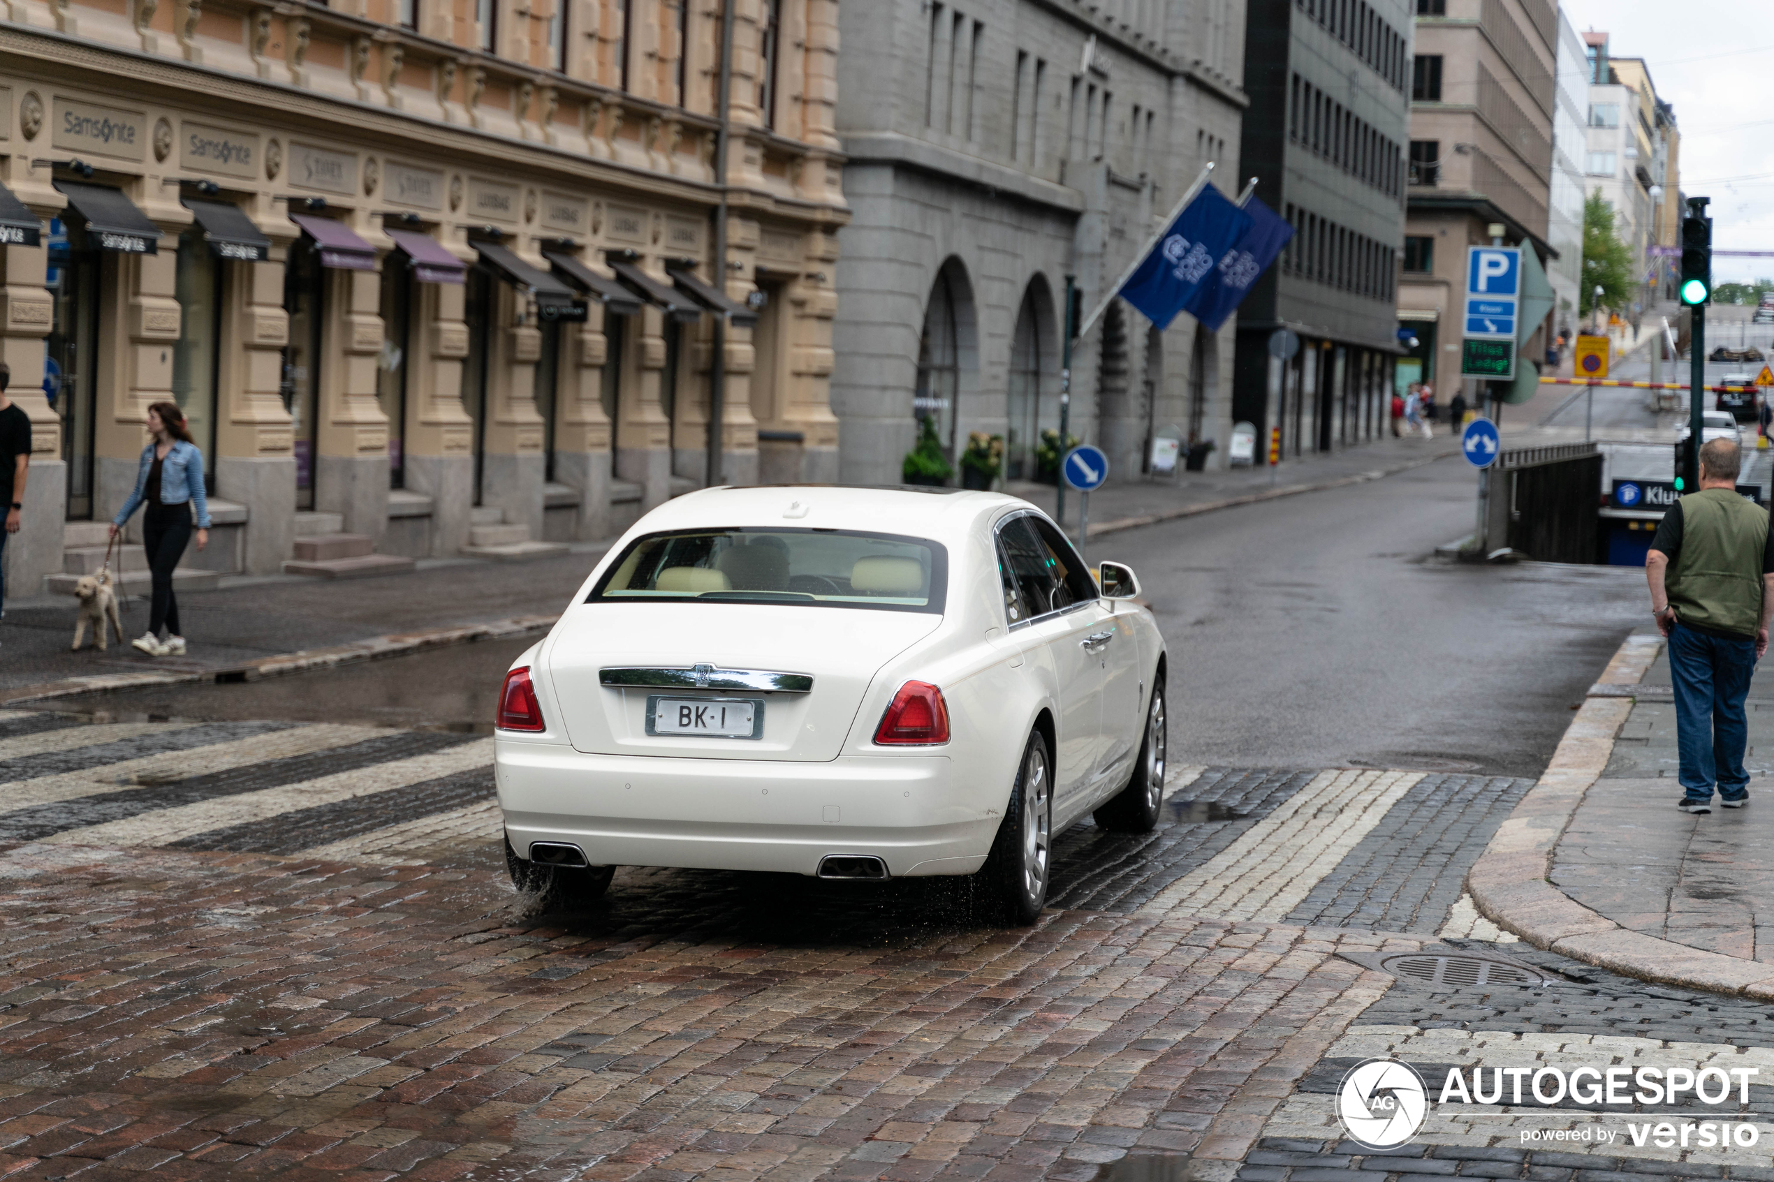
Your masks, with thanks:
[(160, 399), (215, 571), (619, 532), (706, 482), (722, 338), (720, 478), (834, 478), (837, 0), (731, 0), (726, 184), (724, 2), (7, 0), (14, 594), (101, 539)]

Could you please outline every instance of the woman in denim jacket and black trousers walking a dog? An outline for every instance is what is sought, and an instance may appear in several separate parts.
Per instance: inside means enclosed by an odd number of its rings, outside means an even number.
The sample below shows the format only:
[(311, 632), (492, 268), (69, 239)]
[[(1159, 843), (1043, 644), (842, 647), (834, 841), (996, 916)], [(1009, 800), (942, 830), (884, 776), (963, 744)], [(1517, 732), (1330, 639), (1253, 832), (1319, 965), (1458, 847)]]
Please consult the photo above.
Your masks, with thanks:
[[(147, 549), (147, 567), (154, 576), (154, 606), (149, 610), (147, 633), (130, 643), (151, 657), (183, 656), (184, 636), (179, 633), (179, 604), (172, 597), (172, 569), (179, 565), (184, 546), (192, 540), (192, 507), (197, 509), (197, 549), (209, 544), (204, 454), (192, 443), (184, 411), (176, 402), (154, 402), (147, 408), (147, 434), (153, 439), (142, 448), (135, 493), (117, 510), (112, 537), (122, 533), (130, 514), (145, 502), (142, 542)], [(167, 629), (165, 640), (160, 638), (161, 626)]]

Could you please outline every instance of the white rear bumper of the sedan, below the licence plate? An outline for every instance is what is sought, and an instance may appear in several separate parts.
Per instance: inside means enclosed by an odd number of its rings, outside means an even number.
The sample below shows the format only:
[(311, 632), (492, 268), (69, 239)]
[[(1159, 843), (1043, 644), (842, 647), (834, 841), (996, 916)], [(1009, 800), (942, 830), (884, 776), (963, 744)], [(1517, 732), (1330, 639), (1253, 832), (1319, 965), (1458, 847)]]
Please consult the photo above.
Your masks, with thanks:
[(520, 858), (562, 842), (591, 865), (811, 875), (830, 854), (862, 854), (894, 877), (972, 874), (1002, 810), (956, 790), (942, 755), (660, 758), (500, 735), (495, 771)]

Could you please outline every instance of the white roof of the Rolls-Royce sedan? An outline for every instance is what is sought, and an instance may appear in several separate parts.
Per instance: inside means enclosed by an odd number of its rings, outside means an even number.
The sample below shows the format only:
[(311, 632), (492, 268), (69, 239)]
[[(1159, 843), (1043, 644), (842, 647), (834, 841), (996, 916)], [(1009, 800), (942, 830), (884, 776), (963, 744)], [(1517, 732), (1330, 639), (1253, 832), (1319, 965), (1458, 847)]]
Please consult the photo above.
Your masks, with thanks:
[[(765, 484), (713, 487), (674, 496), (635, 523), (632, 533), (695, 528), (866, 530), (958, 544), (981, 517), (1034, 509), (1004, 493), (937, 487)], [(793, 516), (791, 516), (793, 514)]]

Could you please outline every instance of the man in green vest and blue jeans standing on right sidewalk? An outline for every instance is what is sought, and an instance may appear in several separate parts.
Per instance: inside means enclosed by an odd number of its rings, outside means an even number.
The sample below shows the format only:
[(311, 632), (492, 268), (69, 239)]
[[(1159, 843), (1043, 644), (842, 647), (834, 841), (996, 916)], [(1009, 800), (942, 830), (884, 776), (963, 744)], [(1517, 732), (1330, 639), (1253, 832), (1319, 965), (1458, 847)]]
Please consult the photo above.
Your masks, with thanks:
[(1730, 439), (1699, 448), (1699, 489), (1669, 507), (1650, 553), (1657, 631), (1669, 640), (1680, 808), (1712, 812), (1749, 803), (1744, 698), (1769, 647), (1774, 613), (1774, 533), (1769, 514), (1737, 493), (1742, 452)]

